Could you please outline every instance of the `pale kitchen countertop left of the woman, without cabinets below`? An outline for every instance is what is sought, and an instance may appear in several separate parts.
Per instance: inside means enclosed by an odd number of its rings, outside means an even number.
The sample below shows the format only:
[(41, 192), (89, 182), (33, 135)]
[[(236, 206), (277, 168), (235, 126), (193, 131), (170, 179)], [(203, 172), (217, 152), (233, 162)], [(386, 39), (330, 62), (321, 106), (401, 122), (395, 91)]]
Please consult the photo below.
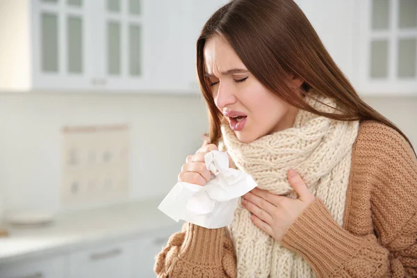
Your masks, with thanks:
[(181, 223), (158, 210), (162, 199), (65, 213), (39, 227), (8, 225), (9, 236), (0, 238), (0, 265), (43, 254), (71, 252), (103, 240), (146, 236), (164, 228), (179, 230)]

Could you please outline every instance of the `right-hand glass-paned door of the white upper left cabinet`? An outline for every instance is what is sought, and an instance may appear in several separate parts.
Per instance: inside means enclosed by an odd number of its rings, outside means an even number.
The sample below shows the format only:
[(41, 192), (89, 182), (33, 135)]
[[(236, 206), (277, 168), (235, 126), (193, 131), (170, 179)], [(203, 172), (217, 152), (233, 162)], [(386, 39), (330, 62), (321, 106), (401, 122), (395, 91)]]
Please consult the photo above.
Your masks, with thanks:
[(94, 0), (95, 84), (98, 90), (137, 91), (149, 84), (147, 1)]

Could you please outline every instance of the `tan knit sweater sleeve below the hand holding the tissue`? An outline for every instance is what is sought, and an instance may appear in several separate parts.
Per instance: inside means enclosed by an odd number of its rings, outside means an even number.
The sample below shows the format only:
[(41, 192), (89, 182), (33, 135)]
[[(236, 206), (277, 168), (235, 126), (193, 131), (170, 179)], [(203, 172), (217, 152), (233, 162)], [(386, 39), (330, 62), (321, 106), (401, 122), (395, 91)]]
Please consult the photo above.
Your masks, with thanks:
[(185, 223), (156, 256), (160, 278), (236, 277), (236, 256), (225, 228), (206, 229)]

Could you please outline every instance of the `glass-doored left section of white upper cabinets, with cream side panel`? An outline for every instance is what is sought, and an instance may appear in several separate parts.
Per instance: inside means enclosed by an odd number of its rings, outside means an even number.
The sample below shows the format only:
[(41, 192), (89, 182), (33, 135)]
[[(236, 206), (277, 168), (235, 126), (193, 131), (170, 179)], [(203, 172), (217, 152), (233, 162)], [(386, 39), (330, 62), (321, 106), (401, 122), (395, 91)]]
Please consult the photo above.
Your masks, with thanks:
[(152, 56), (145, 55), (152, 45), (151, 2), (0, 1), (0, 90), (151, 88)]

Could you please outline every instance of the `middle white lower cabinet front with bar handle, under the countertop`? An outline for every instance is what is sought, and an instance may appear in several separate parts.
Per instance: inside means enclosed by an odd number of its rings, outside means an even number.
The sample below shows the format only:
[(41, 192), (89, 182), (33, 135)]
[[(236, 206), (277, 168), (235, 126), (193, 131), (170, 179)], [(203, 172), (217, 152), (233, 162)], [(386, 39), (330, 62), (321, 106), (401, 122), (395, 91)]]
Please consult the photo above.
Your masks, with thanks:
[(130, 278), (129, 243), (107, 243), (70, 254), (70, 278)]

